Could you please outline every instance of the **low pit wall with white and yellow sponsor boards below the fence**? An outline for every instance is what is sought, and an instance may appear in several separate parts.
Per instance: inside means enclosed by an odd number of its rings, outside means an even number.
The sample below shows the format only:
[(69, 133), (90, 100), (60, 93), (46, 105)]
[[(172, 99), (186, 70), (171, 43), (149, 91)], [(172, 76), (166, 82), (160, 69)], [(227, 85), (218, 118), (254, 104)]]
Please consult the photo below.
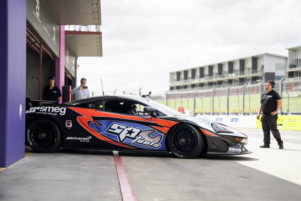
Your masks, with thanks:
[[(262, 128), (260, 120), (256, 119), (256, 115), (196, 115), (196, 117), (217, 121), (230, 127)], [(301, 131), (301, 115), (278, 115), (277, 128), (279, 130)]]

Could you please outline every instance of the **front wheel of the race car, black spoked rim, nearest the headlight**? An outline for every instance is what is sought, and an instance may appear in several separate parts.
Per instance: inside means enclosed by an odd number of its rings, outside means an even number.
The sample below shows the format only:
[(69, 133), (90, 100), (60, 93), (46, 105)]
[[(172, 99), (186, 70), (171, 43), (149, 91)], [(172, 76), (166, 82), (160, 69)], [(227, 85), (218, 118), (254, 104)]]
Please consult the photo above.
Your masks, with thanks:
[(201, 132), (190, 124), (172, 127), (167, 136), (167, 143), (173, 155), (184, 159), (197, 157), (204, 147)]

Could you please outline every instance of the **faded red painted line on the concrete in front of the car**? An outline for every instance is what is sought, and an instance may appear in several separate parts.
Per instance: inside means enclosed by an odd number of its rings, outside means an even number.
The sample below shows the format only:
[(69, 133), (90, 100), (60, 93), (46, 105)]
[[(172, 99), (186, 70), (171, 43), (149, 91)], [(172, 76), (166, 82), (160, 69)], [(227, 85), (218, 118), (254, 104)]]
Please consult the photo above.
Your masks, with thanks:
[(129, 179), (129, 175), (126, 172), (121, 156), (118, 155), (117, 151), (113, 151), (114, 161), (116, 164), (116, 171), (119, 179), (119, 185), (121, 190), (122, 200), (137, 201), (134, 190)]

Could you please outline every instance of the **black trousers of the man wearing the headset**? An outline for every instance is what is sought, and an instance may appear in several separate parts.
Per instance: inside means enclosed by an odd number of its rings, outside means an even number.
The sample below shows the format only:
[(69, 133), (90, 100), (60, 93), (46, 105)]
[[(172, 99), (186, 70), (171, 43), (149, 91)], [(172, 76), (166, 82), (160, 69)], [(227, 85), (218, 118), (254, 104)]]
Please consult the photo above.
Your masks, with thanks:
[(261, 117), (261, 125), (263, 130), (263, 142), (265, 144), (270, 144), (271, 137), (270, 137), (270, 130), (273, 133), (273, 136), (278, 142), (278, 145), (283, 145), (283, 141), (281, 140), (279, 130), (277, 129), (277, 119), (278, 115), (275, 116), (262, 116)]

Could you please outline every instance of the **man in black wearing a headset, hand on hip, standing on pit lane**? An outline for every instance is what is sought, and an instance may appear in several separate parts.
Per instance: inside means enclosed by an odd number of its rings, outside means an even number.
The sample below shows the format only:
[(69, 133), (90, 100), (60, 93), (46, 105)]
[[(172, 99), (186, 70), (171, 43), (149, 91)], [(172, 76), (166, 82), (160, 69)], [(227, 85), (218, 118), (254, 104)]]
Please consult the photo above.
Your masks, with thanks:
[(262, 111), (261, 124), (263, 130), (264, 144), (260, 148), (270, 148), (270, 130), (278, 142), (279, 149), (283, 149), (283, 141), (281, 140), (279, 130), (277, 129), (278, 111), (281, 108), (282, 100), (279, 93), (273, 90), (275, 87), (274, 80), (265, 82), (265, 92), (261, 96), (258, 109), (257, 119)]

